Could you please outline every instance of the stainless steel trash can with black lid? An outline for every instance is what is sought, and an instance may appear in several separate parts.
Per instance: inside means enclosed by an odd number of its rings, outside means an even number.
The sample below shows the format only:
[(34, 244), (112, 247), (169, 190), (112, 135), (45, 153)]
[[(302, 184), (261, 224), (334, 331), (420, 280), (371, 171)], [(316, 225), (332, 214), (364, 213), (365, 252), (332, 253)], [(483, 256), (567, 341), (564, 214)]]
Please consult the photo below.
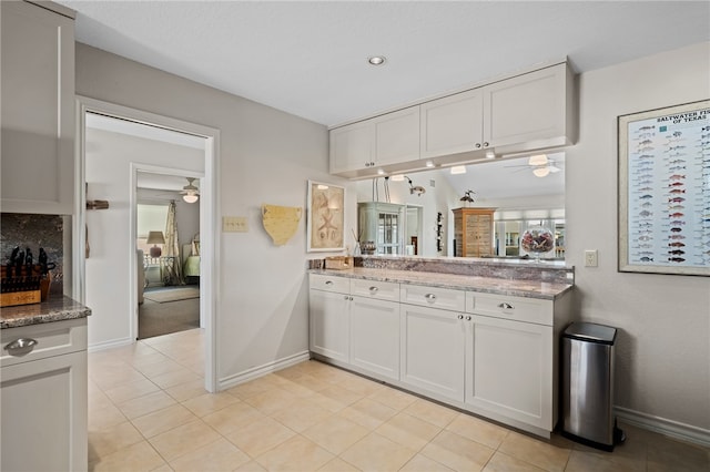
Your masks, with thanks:
[(562, 435), (612, 451), (623, 441), (613, 418), (616, 328), (574, 322), (562, 334)]

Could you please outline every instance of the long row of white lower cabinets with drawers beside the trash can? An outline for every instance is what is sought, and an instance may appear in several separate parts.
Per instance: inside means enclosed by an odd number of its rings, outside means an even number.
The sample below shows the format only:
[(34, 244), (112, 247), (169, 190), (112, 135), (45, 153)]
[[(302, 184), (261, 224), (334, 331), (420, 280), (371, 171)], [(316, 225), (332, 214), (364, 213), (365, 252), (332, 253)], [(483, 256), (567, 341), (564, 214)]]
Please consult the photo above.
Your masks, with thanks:
[(412, 284), (347, 283), (347, 277), (311, 274), (313, 352), (549, 437), (557, 423), (557, 339), (570, 321), (570, 297), (552, 301)]

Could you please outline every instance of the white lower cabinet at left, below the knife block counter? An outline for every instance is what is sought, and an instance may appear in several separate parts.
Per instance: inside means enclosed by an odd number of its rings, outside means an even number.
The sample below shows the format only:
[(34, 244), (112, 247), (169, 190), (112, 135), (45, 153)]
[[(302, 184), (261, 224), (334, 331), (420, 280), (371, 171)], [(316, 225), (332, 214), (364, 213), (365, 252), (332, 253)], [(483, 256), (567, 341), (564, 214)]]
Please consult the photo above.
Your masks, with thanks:
[[(85, 318), (9, 328), (0, 335), (0, 470), (85, 471)], [(14, 347), (32, 341), (33, 348)]]

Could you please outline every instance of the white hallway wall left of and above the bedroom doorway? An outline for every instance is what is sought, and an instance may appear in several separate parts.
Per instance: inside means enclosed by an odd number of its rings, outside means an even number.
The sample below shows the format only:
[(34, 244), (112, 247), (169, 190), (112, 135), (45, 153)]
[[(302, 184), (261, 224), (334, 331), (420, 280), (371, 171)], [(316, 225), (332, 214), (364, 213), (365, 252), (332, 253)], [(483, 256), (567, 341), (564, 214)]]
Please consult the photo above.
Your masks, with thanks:
[(87, 212), (87, 306), (89, 346), (100, 348), (131, 340), (129, 233), (130, 164), (142, 163), (202, 173), (204, 152), (108, 131), (87, 130), (87, 199), (106, 199), (108, 209)]

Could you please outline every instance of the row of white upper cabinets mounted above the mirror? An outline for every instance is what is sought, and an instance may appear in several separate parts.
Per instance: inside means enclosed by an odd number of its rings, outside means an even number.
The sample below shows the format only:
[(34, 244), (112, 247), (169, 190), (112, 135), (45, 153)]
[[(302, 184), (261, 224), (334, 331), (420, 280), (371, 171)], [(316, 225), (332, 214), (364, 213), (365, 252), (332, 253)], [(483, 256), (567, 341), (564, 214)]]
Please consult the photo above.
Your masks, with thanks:
[(359, 178), (574, 144), (574, 83), (559, 63), (334, 129), (331, 173)]

